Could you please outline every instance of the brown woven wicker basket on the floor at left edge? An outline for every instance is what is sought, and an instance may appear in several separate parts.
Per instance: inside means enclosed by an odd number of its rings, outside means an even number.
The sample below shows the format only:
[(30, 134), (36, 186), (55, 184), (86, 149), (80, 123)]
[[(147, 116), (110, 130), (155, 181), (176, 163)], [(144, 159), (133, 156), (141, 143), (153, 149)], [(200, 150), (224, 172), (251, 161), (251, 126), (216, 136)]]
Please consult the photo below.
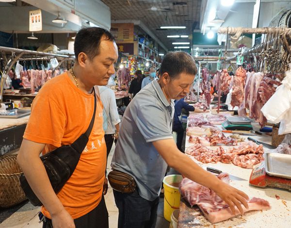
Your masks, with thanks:
[(20, 186), (22, 174), (16, 162), (17, 155), (0, 157), (0, 208), (8, 208), (26, 199)]

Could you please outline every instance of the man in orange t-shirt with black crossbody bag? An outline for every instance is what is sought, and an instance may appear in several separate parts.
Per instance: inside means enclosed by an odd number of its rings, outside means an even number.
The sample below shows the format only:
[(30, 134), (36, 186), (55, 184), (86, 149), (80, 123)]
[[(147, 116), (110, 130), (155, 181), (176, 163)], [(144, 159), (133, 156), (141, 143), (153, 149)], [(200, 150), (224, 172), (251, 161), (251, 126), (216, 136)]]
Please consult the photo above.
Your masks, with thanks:
[[(39, 155), (72, 144), (89, 126), (94, 85), (106, 85), (114, 74), (118, 50), (113, 35), (101, 28), (81, 29), (74, 45), (76, 63), (41, 88), (17, 157), (33, 192), (43, 203), (43, 227), (108, 228), (103, 106), (98, 95), (94, 126), (79, 163), (56, 195)], [(104, 189), (103, 189), (104, 185)]]

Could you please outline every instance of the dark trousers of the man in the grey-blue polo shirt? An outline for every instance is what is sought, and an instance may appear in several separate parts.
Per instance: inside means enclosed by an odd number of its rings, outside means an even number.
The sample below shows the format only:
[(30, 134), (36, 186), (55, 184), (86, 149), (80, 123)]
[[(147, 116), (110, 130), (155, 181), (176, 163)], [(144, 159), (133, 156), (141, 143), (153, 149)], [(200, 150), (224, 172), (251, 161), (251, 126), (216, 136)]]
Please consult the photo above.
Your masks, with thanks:
[(159, 197), (148, 201), (138, 194), (120, 193), (113, 190), (115, 204), (118, 208), (118, 228), (155, 228)]

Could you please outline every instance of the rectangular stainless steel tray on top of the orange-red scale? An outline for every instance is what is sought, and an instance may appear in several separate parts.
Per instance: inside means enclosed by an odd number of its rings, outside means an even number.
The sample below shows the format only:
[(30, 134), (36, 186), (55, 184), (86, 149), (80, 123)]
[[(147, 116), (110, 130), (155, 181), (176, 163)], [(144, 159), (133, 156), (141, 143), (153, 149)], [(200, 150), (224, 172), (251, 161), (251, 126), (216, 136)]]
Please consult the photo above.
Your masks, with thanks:
[(265, 153), (266, 173), (280, 178), (291, 179), (291, 155)]

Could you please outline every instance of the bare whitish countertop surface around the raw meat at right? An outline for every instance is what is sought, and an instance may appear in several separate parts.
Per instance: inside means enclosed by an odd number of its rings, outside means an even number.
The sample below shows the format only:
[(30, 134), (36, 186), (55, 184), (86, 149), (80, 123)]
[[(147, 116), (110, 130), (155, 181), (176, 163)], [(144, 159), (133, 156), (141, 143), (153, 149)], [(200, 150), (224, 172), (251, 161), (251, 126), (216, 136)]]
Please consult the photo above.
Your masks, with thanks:
[[(209, 113), (208, 113), (209, 114)], [(207, 115), (207, 114), (204, 114)], [(221, 128), (221, 125), (217, 125)], [(259, 125), (253, 123), (255, 130)], [(226, 136), (229, 134), (225, 133)], [(248, 136), (242, 136), (247, 141)], [(265, 135), (252, 136), (253, 138), (271, 144), (271, 137)], [(189, 143), (189, 136), (186, 136), (185, 150), (192, 144)], [(229, 147), (229, 146), (222, 146)], [(216, 148), (216, 147), (213, 147)], [(264, 151), (268, 149), (264, 147)], [(190, 155), (189, 155), (190, 156)], [(232, 163), (201, 163), (190, 156), (196, 163), (206, 169), (207, 166), (222, 170), (223, 172), (237, 176), (245, 180), (230, 180), (230, 185), (242, 190), (249, 197), (259, 197), (267, 200), (271, 205), (271, 210), (246, 212), (243, 216), (211, 224), (197, 206), (190, 207), (189, 203), (181, 199), (178, 228), (266, 228), (280, 227), (288, 228), (291, 224), (291, 193), (287, 190), (277, 188), (259, 188), (249, 184), (252, 169), (245, 169)]]

